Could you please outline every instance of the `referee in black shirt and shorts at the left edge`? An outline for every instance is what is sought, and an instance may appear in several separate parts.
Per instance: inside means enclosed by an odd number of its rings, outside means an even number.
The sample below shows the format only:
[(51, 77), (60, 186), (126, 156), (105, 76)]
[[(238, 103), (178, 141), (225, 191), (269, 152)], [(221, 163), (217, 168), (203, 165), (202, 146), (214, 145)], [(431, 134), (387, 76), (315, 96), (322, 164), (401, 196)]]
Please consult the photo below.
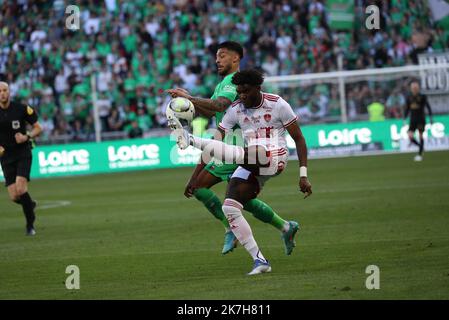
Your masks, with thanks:
[[(26, 131), (26, 124), (33, 128)], [(9, 86), (0, 82), (0, 163), (12, 201), (20, 204), (26, 218), (26, 234), (33, 236), (36, 202), (28, 193), (31, 171), (31, 140), (42, 132), (33, 108), (10, 101)]]

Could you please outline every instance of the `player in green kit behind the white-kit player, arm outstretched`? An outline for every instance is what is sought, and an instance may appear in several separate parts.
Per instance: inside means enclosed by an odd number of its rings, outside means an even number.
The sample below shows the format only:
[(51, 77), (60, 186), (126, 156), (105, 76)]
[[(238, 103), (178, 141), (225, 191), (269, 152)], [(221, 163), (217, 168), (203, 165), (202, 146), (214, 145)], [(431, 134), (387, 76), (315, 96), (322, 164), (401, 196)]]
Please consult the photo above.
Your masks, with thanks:
[[(243, 47), (234, 41), (225, 41), (218, 45), (216, 64), (218, 74), (223, 80), (215, 87), (210, 99), (192, 97), (188, 91), (175, 88), (167, 90), (172, 97), (184, 97), (195, 106), (195, 112), (207, 118), (215, 116), (220, 123), (226, 109), (237, 97), (236, 86), (231, 82), (232, 76), (239, 70), (240, 60), (243, 58)], [(237, 169), (236, 164), (222, 164), (211, 161), (207, 165), (199, 163), (187, 183), (184, 195), (188, 198), (194, 196), (202, 202), (207, 210), (220, 220), (225, 227), (225, 239), (222, 254), (231, 252), (237, 245), (237, 238), (229, 227), (228, 220), (222, 210), (222, 203), (210, 188), (222, 181), (228, 181)], [(250, 200), (243, 208), (251, 212), (255, 218), (269, 223), (281, 232), (285, 246), (285, 254), (290, 255), (295, 247), (295, 234), (299, 224), (295, 221), (282, 219), (273, 209), (259, 199)]]

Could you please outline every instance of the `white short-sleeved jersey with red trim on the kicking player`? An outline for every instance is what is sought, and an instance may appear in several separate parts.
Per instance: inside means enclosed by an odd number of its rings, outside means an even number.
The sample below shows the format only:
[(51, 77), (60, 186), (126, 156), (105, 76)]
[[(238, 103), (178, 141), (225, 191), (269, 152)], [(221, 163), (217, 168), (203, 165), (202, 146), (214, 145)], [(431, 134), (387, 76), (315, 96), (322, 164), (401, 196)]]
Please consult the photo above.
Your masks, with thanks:
[(246, 146), (263, 145), (268, 150), (287, 149), (285, 128), (295, 123), (297, 116), (280, 96), (268, 93), (262, 95), (260, 105), (251, 109), (236, 100), (226, 110), (219, 127), (226, 132), (238, 125)]

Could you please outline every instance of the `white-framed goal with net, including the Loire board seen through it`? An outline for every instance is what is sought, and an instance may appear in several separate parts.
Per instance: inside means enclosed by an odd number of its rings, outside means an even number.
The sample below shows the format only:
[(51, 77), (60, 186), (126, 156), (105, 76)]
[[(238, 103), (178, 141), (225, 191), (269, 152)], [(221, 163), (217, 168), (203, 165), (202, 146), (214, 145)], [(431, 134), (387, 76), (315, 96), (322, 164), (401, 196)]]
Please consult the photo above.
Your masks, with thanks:
[[(279, 94), (299, 116), (309, 156), (416, 152), (402, 121), (410, 82), (419, 81), (434, 114), (426, 150), (449, 149), (449, 54), (427, 54), (420, 65), (267, 77), (263, 90)], [(422, 57), (420, 57), (422, 58)], [(295, 145), (288, 140), (290, 155)]]

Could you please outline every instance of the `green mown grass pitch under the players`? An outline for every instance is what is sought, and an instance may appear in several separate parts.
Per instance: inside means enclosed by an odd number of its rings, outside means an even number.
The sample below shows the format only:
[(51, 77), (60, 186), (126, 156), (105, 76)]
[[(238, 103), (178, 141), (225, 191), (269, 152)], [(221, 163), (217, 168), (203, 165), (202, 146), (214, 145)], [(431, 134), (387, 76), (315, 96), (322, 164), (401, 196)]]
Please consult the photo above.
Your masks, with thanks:
[[(260, 198), (300, 222), (297, 247), (285, 256), (279, 232), (246, 213), (273, 268), (255, 277), (246, 251), (222, 256), (222, 225), (184, 198), (192, 168), (33, 181), (34, 238), (3, 188), (0, 299), (449, 299), (449, 152), (424, 158), (312, 160), (305, 200), (291, 161)], [(65, 287), (68, 265), (79, 290)], [(379, 290), (365, 287), (368, 265)]]

